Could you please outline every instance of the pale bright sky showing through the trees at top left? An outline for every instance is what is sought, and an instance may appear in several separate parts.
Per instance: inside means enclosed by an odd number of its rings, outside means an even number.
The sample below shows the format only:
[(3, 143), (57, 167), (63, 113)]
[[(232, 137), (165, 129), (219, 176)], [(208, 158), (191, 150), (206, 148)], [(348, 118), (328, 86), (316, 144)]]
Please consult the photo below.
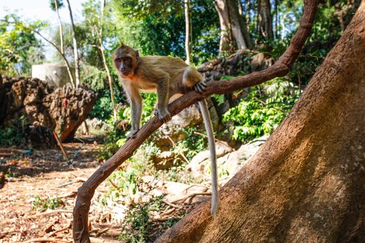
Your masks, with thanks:
[[(87, 0), (70, 0), (72, 15), (74, 22), (81, 19), (82, 6), (81, 3)], [(70, 23), (70, 13), (68, 12), (67, 2), (64, 0), (64, 7), (60, 8), (60, 17), (62, 22)], [(15, 12), (21, 16), (23, 20), (46, 20), (49, 22), (49, 28), (58, 28), (58, 19), (56, 12), (49, 8), (49, 0), (0, 0), (0, 19), (6, 15), (7, 12)], [(46, 37), (49, 37), (47, 29), (42, 31)], [(40, 39), (42, 40), (42, 39)], [(53, 56), (54, 49), (47, 42), (44, 42), (46, 60), (50, 60)]]

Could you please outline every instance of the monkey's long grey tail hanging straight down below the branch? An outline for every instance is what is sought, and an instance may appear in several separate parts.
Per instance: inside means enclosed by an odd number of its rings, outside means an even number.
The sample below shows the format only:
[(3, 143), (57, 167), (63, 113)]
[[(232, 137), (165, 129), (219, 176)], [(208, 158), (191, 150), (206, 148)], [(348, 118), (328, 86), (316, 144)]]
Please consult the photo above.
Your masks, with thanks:
[(209, 150), (211, 152), (211, 215), (216, 215), (218, 210), (218, 174), (217, 174), (217, 156), (216, 146), (214, 143), (213, 126), (211, 116), (209, 115), (206, 99), (199, 101), (200, 110), (202, 110), (203, 121), (206, 135), (208, 136)]

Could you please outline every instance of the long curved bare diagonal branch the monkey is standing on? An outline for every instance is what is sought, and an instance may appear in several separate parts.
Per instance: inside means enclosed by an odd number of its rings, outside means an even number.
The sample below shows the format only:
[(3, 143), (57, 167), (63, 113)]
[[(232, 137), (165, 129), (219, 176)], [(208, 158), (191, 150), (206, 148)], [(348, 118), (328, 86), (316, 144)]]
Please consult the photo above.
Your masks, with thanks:
[[(314, 23), (317, 6), (318, 1), (305, 0), (305, 8), (302, 19), (300, 20), (298, 31), (291, 40), (291, 44), (288, 49), (286, 49), (273, 66), (261, 72), (253, 72), (246, 76), (225, 81), (210, 82), (206, 87), (206, 92), (203, 94), (190, 91), (169, 105), (171, 115), (177, 115), (177, 113), (184, 110), (184, 108), (209, 97), (211, 94), (226, 94), (235, 90), (241, 90), (245, 87), (258, 85), (278, 76), (286, 75), (289, 72), (289, 67), (291, 67), (295, 59), (298, 58), (298, 55), (305, 44), (305, 40), (307, 40), (307, 37), (311, 33), (311, 26), (313, 26)], [(154, 131), (156, 131), (162, 124), (163, 122), (160, 121), (158, 117), (153, 117), (140, 129), (140, 131), (138, 131), (136, 137), (128, 140), (112, 158), (99, 167), (99, 169), (97, 169), (97, 171), (88, 178), (88, 181), (83, 183), (83, 185), (79, 188), (76, 205), (74, 207), (74, 221), (72, 229), (75, 242), (90, 242), (88, 235), (88, 212), (90, 209), (90, 201), (95, 193), (95, 189), (100, 185), (100, 183), (108, 178), (108, 176), (118, 166), (120, 166), (122, 162), (131, 157), (133, 152), (136, 151), (141, 144), (143, 144), (147, 137), (152, 135), (152, 133), (154, 133)]]

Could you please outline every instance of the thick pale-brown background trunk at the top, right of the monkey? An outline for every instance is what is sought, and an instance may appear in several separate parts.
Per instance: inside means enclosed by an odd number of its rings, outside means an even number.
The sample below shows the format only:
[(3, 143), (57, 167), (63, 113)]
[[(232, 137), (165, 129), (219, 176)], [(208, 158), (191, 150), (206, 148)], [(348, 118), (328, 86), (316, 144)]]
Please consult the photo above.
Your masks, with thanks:
[(238, 49), (252, 49), (250, 33), (245, 18), (238, 12), (236, 1), (216, 0), (214, 6), (220, 19), (220, 52), (232, 51), (232, 46)]

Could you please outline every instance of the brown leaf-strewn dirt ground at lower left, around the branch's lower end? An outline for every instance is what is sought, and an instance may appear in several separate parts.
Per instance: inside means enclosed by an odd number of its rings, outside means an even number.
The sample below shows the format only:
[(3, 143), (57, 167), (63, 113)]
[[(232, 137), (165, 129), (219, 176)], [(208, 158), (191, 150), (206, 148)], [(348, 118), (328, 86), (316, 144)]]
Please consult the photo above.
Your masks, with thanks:
[[(59, 149), (22, 151), (0, 148), (0, 243), (73, 242), (72, 208), (77, 188), (99, 166), (97, 142), (65, 144), (68, 165)], [(107, 192), (102, 183), (95, 196)], [(47, 200), (48, 199), (48, 200)], [(42, 210), (45, 201), (58, 203)], [(48, 205), (47, 208), (50, 206)], [(92, 242), (116, 242), (120, 228), (90, 210)]]

